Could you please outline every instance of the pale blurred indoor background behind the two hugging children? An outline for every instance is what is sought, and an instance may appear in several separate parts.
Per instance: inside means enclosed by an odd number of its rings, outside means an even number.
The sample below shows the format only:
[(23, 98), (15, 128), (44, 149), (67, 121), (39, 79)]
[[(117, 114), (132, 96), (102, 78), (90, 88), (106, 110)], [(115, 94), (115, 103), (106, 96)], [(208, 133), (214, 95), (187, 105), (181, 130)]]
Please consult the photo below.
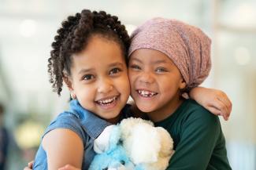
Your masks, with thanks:
[(223, 90), (233, 103), (229, 121), (221, 118), (229, 161), (234, 170), (256, 169), (255, 0), (0, 0), (0, 137), (9, 136), (0, 140), (8, 154), (2, 169), (23, 169), (44, 128), (67, 107), (67, 89), (61, 97), (51, 90), (47, 58), (61, 21), (82, 9), (119, 16), (129, 32), (154, 16), (206, 31), (213, 69), (203, 85)]

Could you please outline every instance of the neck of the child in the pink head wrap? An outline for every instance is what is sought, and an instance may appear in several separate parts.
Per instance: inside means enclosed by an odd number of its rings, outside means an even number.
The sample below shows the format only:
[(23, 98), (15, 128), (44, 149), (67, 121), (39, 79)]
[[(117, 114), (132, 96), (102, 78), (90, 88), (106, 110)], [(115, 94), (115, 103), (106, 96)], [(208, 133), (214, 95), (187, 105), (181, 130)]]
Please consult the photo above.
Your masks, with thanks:
[(177, 99), (172, 99), (169, 103), (166, 103), (163, 107), (158, 110), (147, 113), (147, 116), (150, 118), (150, 121), (158, 122), (163, 121), (165, 118), (168, 118), (172, 115), (178, 107), (184, 102), (184, 99), (178, 97)]

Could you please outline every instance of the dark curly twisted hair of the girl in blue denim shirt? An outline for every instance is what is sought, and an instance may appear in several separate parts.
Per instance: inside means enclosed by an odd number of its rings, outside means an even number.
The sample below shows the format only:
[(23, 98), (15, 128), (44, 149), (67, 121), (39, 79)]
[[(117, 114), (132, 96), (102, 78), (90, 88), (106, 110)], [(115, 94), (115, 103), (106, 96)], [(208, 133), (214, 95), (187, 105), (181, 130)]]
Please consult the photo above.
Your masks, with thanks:
[(81, 52), (92, 35), (100, 34), (117, 42), (121, 46), (126, 63), (128, 62), (130, 45), (128, 32), (117, 16), (111, 16), (105, 11), (91, 12), (91, 10), (83, 9), (75, 16), (68, 16), (67, 20), (62, 22), (57, 33), (48, 59), (48, 73), (54, 92), (57, 92), (59, 96), (61, 95), (64, 71), (70, 75), (72, 54)]

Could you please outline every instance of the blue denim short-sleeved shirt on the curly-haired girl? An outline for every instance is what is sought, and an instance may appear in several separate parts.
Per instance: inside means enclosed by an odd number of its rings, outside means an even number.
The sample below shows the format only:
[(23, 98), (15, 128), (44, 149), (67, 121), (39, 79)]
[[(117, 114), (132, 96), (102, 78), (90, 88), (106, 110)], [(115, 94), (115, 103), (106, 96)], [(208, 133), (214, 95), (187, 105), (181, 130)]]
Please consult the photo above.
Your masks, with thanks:
[[(121, 110), (121, 119), (131, 117), (130, 106), (126, 105)], [(58, 115), (58, 117), (50, 123), (46, 128), (46, 133), (56, 128), (67, 128), (76, 132), (80, 139), (83, 141), (83, 163), (82, 169), (88, 169), (91, 161), (95, 157), (95, 150), (93, 144), (95, 139), (102, 133), (106, 126), (110, 123), (102, 118), (99, 118), (89, 110), (85, 110), (80, 106), (80, 103), (74, 99), (70, 102), (70, 110), (65, 111)], [(65, 147), (65, 146), (64, 146)], [(47, 155), (43, 149), (42, 144), (35, 155), (35, 162), (33, 169), (46, 170), (47, 168)]]

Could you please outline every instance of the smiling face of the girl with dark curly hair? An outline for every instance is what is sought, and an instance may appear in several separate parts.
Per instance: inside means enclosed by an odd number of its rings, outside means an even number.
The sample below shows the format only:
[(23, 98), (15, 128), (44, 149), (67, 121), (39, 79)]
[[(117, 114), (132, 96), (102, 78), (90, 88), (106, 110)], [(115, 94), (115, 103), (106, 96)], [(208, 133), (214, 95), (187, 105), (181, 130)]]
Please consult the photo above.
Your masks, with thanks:
[(117, 42), (93, 35), (82, 52), (72, 56), (67, 85), (81, 106), (115, 123), (130, 94), (124, 54)]

